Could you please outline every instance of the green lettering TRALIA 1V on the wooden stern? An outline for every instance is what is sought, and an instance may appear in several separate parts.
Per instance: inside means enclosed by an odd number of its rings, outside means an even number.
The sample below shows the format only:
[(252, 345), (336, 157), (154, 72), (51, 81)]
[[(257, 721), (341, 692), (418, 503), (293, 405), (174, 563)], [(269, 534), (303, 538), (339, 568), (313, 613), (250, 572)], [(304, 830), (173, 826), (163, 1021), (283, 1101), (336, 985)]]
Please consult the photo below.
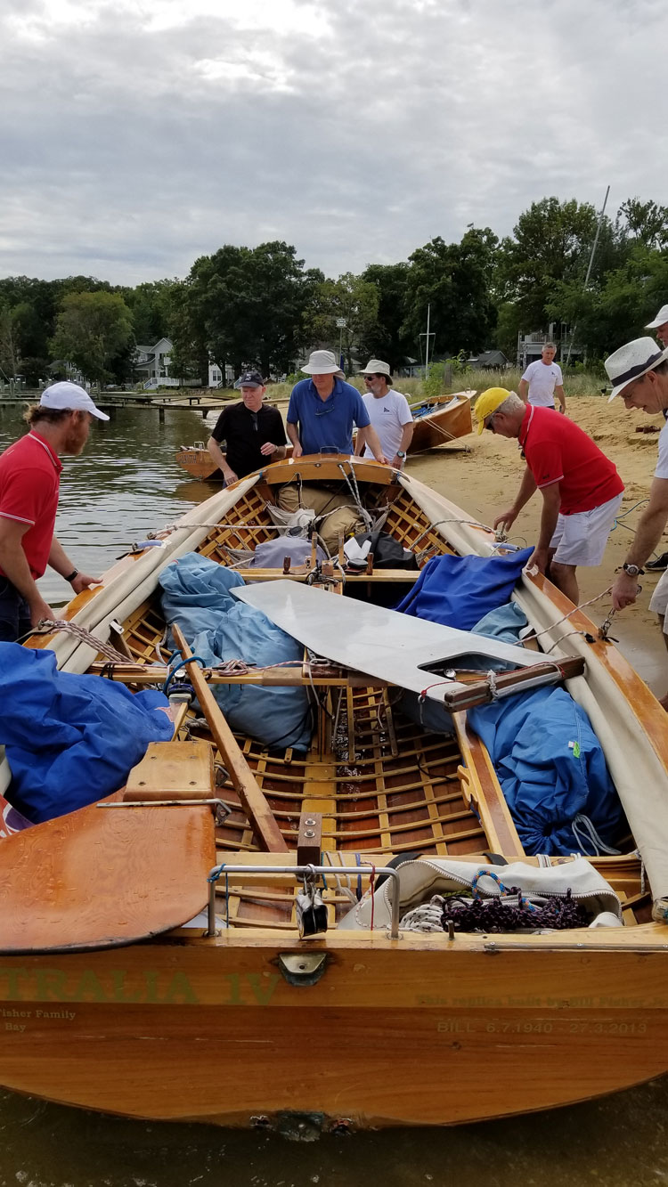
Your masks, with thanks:
[[(223, 973), (216, 980), (221, 1005), (267, 1005), (280, 980), (278, 973)], [(220, 996), (218, 996), (220, 995)], [(0, 1001), (5, 1002), (113, 1002), (155, 1005), (198, 1005), (201, 998), (186, 973), (142, 969), (84, 969), (72, 973), (56, 967), (0, 967)], [(0, 1017), (30, 1017), (30, 1010), (0, 1009)], [(36, 1018), (68, 1018), (70, 1011), (34, 1011)], [(71, 1014), (74, 1017), (74, 1014)]]

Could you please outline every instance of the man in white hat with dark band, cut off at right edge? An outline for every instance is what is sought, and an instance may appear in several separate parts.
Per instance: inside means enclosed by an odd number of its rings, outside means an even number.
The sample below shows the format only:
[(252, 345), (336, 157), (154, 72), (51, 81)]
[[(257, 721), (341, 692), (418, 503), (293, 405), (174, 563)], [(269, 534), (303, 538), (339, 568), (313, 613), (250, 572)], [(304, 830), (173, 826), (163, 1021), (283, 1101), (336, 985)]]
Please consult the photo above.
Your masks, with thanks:
[[(666, 306), (668, 307), (668, 306)], [(649, 415), (662, 413), (668, 421), (668, 349), (654, 338), (635, 338), (605, 360), (612, 382), (611, 400), (621, 395), (626, 410), (641, 408)], [(668, 520), (668, 423), (659, 434), (659, 461), (649, 489), (649, 503), (642, 513), (631, 547), (612, 586), (612, 605), (623, 610), (638, 594), (638, 576), (659, 544)], [(668, 572), (662, 573), (651, 595), (649, 609), (659, 615), (663, 641), (668, 647)], [(668, 710), (668, 693), (661, 698)]]

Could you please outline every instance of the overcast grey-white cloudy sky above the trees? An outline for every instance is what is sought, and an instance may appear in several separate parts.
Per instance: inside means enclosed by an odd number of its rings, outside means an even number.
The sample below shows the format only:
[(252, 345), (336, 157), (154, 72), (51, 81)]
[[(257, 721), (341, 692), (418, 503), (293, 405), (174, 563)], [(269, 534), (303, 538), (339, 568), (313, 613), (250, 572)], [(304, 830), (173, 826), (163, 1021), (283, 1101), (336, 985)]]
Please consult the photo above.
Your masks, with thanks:
[(0, 275), (329, 275), (668, 203), (666, 0), (0, 0)]

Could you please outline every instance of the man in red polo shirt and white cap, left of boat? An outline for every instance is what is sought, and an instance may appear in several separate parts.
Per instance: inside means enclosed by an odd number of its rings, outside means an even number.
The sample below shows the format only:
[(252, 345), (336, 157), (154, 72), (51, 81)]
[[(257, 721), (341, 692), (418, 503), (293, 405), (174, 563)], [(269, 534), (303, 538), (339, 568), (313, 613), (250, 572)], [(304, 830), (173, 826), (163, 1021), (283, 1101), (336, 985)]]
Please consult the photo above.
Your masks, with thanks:
[(0, 641), (13, 642), (55, 617), (37, 588), (46, 565), (75, 594), (98, 580), (79, 573), (53, 535), (58, 455), (81, 453), (94, 417), (109, 419), (77, 383), (53, 383), (25, 413), (30, 432), (0, 456)]

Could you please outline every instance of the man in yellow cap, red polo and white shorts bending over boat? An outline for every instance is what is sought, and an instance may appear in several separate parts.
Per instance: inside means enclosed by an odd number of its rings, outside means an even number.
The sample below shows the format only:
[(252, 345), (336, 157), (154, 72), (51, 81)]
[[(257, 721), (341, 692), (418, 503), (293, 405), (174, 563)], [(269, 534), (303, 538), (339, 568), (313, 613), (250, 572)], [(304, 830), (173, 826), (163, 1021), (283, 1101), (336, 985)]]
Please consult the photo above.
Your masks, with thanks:
[(535, 565), (578, 604), (578, 565), (599, 565), (624, 483), (591, 437), (552, 408), (526, 405), (515, 392), (490, 387), (476, 400), (478, 433), (516, 437), (527, 469), (515, 502), (494, 521), (510, 527), (536, 488), (543, 506)]

